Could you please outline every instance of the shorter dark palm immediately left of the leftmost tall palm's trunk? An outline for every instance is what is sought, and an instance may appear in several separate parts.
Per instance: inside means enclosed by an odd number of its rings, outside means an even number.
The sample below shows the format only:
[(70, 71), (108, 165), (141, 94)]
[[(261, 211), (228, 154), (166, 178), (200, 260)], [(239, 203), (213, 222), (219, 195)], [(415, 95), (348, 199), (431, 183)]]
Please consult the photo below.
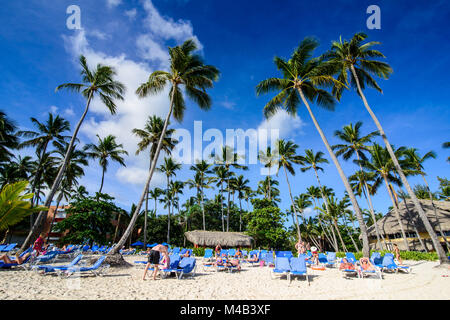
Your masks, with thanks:
[[(36, 126), (37, 131), (19, 131), (17, 133), (20, 137), (29, 138), (19, 144), (19, 148), (35, 147), (37, 153), (46, 154), (48, 145), (51, 141), (58, 141), (64, 143), (70, 139), (70, 136), (64, 135), (64, 132), (70, 131), (69, 121), (61, 118), (60, 116), (53, 117), (52, 113), (48, 113), (48, 119), (46, 122), (39, 122), (36, 118), (31, 118), (31, 122)], [(37, 188), (37, 195), (40, 193), (40, 182), (42, 175), (42, 162), (39, 162), (37, 172), (35, 175), (34, 183), (31, 187), (31, 192), (35, 192)], [(31, 201), (32, 205), (36, 204), (36, 197)]]

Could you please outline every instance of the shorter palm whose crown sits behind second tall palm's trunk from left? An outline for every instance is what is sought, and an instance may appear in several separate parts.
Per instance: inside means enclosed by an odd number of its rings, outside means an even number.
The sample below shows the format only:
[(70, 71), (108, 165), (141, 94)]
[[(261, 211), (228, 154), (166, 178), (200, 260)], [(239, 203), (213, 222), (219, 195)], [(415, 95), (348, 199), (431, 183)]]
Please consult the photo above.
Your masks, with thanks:
[[(169, 122), (170, 125), (170, 122)], [(152, 166), (152, 161), (155, 158), (156, 148), (158, 146), (159, 138), (164, 128), (164, 121), (155, 115), (148, 117), (145, 123), (144, 129), (135, 128), (132, 133), (140, 138), (138, 142), (138, 149), (136, 150), (136, 155), (150, 148), (149, 150), (149, 170)], [(177, 140), (172, 139), (171, 136), (175, 132), (175, 129), (167, 129), (165, 137), (162, 142), (161, 150), (163, 150), (167, 155), (170, 155), (175, 145), (178, 143)], [(147, 186), (146, 196), (145, 196), (145, 216), (144, 216), (144, 248), (147, 245), (147, 220), (148, 220), (148, 198), (149, 198), (149, 186)], [(155, 213), (156, 213), (156, 200), (155, 200)]]

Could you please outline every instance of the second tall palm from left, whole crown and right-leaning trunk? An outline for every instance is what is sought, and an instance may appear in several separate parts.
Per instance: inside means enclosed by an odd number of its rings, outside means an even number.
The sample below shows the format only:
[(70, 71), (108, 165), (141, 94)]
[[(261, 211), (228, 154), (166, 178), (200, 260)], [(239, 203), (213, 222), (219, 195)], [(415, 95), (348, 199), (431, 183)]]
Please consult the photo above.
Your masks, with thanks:
[(169, 125), (169, 121), (172, 118), (172, 113), (177, 121), (181, 122), (183, 120), (186, 105), (182, 88), (184, 88), (187, 96), (201, 109), (209, 110), (211, 108), (211, 98), (206, 93), (206, 89), (212, 88), (214, 81), (218, 80), (219, 70), (214, 66), (205, 65), (202, 58), (199, 55), (194, 54), (195, 50), (197, 50), (197, 45), (194, 40), (187, 40), (180, 46), (169, 48), (170, 72), (153, 72), (148, 81), (143, 83), (136, 90), (136, 93), (140, 98), (145, 98), (148, 95), (161, 93), (167, 84), (171, 84), (169, 92), (169, 112), (166, 120), (164, 121), (164, 128), (158, 141), (155, 158), (153, 159), (153, 163), (144, 186), (144, 191), (136, 206), (136, 211), (133, 213), (127, 230), (110, 254), (116, 254), (119, 252), (125, 244), (126, 239), (130, 236), (131, 230), (136, 223), (142, 203), (146, 197), (147, 186), (150, 185), (156, 164), (158, 162), (159, 153), (162, 147), (162, 140), (166, 135), (166, 130)]

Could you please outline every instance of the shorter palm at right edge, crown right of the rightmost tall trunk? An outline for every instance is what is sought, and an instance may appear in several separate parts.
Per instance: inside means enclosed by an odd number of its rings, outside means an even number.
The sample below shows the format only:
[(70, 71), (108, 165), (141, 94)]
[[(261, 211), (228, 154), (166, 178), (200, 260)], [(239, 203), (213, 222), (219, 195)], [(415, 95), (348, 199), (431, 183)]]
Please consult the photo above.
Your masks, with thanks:
[[(436, 153), (434, 151), (429, 151), (423, 156), (421, 156), (416, 148), (407, 148), (405, 152), (403, 153), (405, 156), (405, 161), (418, 173), (422, 176), (423, 181), (425, 182), (426, 191), (429, 195), (429, 199), (431, 201), (431, 206), (433, 207), (434, 212), (434, 218), (436, 219), (437, 227), (439, 228), (439, 232), (442, 235), (442, 238), (444, 239), (445, 245), (447, 247), (447, 251), (450, 251), (450, 245), (447, 241), (447, 237), (444, 236), (444, 233), (442, 231), (441, 222), (439, 221), (439, 217), (437, 215), (436, 206), (434, 205), (433, 199), (435, 198), (433, 196), (433, 193), (430, 190), (430, 186), (428, 184), (427, 179), (425, 179), (426, 173), (424, 171), (423, 163), (428, 159), (436, 159)], [(413, 190), (414, 191), (414, 190)], [(414, 192), (416, 193), (416, 192)]]

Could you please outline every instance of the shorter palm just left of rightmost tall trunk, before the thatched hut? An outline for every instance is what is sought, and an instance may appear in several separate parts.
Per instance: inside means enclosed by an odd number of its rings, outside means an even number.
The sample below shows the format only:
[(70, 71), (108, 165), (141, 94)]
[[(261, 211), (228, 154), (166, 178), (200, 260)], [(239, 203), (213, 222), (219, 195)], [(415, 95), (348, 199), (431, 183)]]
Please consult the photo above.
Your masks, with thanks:
[[(393, 182), (397, 184), (398, 186), (401, 185), (401, 181), (397, 179), (397, 177), (394, 176), (393, 171), (395, 171), (394, 164), (392, 162), (392, 159), (389, 157), (389, 153), (386, 148), (382, 148), (379, 144), (373, 144), (373, 146), (369, 149), (371, 159), (366, 161), (360, 161), (361, 165), (371, 171), (376, 173), (379, 177), (381, 177), (386, 185), (386, 189), (388, 191), (389, 197), (391, 198), (391, 202), (394, 208), (394, 213), (396, 215), (397, 221), (400, 226), (400, 231), (403, 237), (403, 241), (405, 243), (405, 247), (407, 250), (409, 250), (409, 243), (408, 239), (406, 238), (406, 234), (404, 231), (403, 223), (400, 219), (400, 213), (398, 211), (397, 205), (394, 201), (394, 195), (391, 192), (390, 188), (390, 182)], [(399, 148), (397, 151), (397, 154), (400, 155), (400, 153), (403, 152), (403, 148)]]

